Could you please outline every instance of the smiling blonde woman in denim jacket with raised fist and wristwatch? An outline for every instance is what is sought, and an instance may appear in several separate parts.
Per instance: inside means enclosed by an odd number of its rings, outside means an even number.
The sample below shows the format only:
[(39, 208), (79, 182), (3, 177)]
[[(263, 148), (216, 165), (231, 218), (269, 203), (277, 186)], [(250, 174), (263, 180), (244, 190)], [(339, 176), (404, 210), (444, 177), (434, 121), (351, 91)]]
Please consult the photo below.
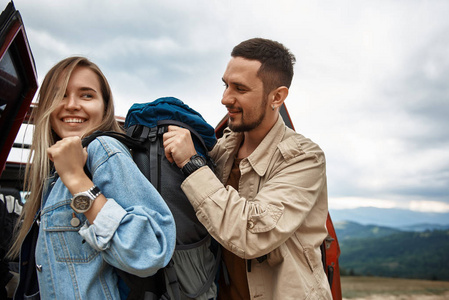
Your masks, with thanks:
[(95, 130), (121, 131), (95, 64), (62, 60), (38, 101), (30, 194), (11, 251), (21, 259), (15, 299), (119, 299), (126, 292), (114, 268), (145, 277), (164, 267), (175, 245), (173, 217), (120, 142), (99, 137), (82, 148), (81, 137)]

